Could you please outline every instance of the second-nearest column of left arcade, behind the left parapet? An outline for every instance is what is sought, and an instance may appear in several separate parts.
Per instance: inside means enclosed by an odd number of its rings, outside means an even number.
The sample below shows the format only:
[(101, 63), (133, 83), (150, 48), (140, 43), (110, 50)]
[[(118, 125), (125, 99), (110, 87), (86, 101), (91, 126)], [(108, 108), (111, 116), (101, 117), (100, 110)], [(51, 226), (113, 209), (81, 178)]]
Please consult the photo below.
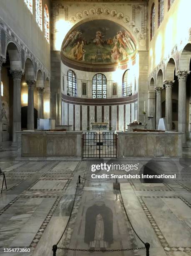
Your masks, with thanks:
[(28, 85), (27, 129), (34, 130), (34, 80), (26, 81)]

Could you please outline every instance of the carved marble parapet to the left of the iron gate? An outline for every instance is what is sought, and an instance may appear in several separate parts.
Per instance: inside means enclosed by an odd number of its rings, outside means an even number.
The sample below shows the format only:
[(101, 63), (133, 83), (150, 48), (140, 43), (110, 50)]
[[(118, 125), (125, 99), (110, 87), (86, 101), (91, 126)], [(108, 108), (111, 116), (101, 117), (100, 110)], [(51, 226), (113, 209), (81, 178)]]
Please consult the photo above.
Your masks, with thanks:
[(80, 131), (20, 131), (18, 158), (81, 158)]

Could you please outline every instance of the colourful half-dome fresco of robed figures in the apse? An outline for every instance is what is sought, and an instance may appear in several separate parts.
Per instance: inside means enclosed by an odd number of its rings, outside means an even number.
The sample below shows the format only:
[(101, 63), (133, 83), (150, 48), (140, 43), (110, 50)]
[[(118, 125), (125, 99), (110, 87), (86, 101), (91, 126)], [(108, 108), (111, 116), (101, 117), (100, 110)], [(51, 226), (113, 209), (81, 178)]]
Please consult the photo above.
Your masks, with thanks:
[(108, 64), (131, 59), (135, 50), (126, 28), (110, 20), (91, 20), (70, 32), (62, 53), (83, 63)]

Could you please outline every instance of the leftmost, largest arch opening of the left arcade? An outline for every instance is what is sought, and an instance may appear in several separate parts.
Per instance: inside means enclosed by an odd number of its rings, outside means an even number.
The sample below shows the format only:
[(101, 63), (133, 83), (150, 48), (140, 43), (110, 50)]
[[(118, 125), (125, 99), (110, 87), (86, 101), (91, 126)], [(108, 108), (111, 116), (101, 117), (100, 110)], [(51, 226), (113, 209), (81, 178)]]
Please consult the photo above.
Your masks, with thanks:
[(10, 69), (21, 70), (22, 69), (21, 56), (20, 56), (20, 52), (18, 50), (17, 45), (14, 42), (10, 41), (7, 44), (6, 51), (9, 54)]

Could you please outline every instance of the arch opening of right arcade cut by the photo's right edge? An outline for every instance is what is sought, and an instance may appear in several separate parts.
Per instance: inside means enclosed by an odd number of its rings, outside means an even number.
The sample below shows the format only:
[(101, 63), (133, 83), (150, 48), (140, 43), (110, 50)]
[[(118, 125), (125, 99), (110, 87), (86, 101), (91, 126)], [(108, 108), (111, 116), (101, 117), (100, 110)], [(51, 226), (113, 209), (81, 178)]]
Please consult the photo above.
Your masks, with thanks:
[(191, 44), (186, 44), (181, 52), (181, 57), (179, 61), (179, 70), (188, 71), (190, 69), (190, 59), (191, 59)]

